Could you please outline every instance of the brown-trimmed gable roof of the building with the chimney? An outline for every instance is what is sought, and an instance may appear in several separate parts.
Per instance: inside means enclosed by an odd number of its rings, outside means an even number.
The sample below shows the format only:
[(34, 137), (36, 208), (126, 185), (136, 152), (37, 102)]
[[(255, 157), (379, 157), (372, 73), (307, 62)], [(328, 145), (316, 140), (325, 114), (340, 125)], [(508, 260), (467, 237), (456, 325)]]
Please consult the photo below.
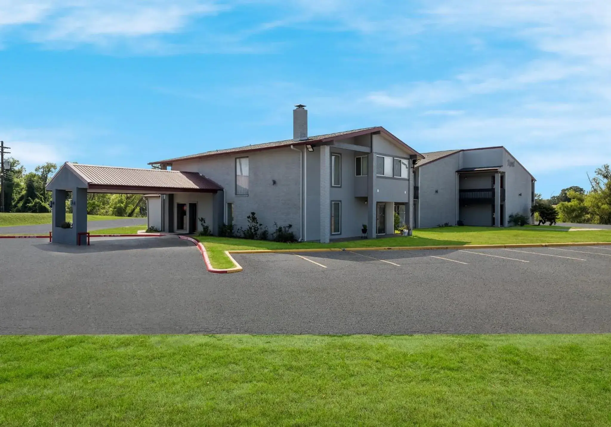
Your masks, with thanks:
[(180, 160), (199, 159), (203, 157), (221, 156), (225, 154), (246, 153), (248, 151), (258, 151), (258, 150), (268, 150), (270, 148), (289, 147), (290, 145), (315, 144), (316, 142), (328, 142), (328, 141), (333, 141), (334, 139), (346, 139), (346, 138), (351, 138), (355, 136), (367, 135), (367, 134), (375, 133), (375, 132), (384, 134), (385, 136), (387, 136), (389, 139), (391, 139), (395, 143), (402, 145), (404, 148), (408, 150), (413, 151), (417, 156), (422, 156), (418, 151), (414, 150), (414, 148), (409, 147), (409, 145), (405, 144), (403, 141), (398, 139), (396, 136), (394, 136), (392, 133), (384, 129), (382, 126), (373, 126), (371, 128), (354, 129), (350, 131), (342, 131), (342, 132), (335, 132), (335, 133), (327, 133), (324, 135), (310, 136), (308, 139), (304, 141), (294, 141), (293, 139), (284, 139), (283, 141), (265, 142), (264, 144), (244, 145), (243, 147), (224, 148), (222, 150), (205, 151), (203, 153), (150, 162), (149, 164), (170, 164), (172, 162), (180, 161)]

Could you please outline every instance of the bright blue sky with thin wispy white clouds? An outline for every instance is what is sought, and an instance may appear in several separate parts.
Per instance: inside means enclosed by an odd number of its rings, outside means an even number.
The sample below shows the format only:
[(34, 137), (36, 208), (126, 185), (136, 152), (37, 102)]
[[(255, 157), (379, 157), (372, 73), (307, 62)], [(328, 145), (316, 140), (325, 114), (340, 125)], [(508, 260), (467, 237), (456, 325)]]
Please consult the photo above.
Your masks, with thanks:
[(384, 126), (419, 151), (505, 145), (544, 197), (611, 162), (608, 0), (0, 0), (0, 139), (146, 167)]

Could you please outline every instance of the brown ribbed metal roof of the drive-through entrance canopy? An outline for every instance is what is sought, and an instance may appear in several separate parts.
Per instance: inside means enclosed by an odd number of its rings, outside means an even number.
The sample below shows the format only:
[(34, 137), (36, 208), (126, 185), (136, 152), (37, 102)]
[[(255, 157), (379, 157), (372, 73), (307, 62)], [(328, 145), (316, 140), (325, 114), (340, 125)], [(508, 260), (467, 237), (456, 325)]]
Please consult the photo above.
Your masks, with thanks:
[(93, 166), (71, 162), (66, 162), (64, 166), (86, 181), (90, 189), (148, 189), (148, 192), (163, 190), (213, 192), (222, 190), (219, 184), (197, 172)]

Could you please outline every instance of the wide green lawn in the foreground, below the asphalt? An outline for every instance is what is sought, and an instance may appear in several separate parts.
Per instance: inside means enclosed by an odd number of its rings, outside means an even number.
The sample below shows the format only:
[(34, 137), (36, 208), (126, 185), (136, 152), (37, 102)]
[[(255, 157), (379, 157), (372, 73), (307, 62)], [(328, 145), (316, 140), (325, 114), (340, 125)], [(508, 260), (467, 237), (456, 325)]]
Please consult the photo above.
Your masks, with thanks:
[(0, 425), (611, 424), (611, 335), (0, 337)]

